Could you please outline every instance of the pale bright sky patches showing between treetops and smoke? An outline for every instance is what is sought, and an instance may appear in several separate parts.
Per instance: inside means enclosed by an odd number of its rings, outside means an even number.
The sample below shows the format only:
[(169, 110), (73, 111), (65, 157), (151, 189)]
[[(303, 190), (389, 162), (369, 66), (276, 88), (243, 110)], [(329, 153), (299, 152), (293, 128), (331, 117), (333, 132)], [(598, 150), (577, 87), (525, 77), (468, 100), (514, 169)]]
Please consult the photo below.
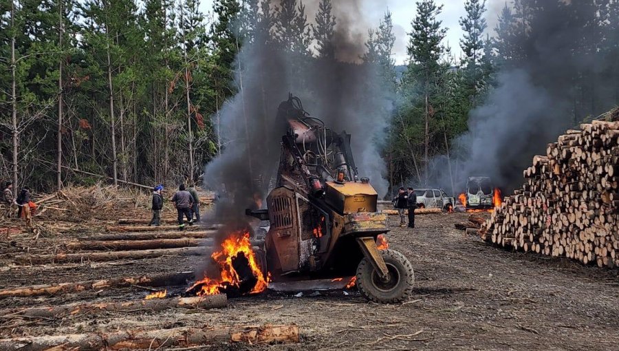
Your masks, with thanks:
[[(372, 27), (378, 27), (378, 23), (384, 16), (384, 13), (387, 12), (387, 10), (391, 11), (393, 16), (393, 32), (395, 32), (396, 38), (393, 50), (394, 58), (399, 65), (406, 63), (408, 59), (408, 55), (406, 54), (406, 45), (408, 43), (407, 34), (411, 32), (411, 21), (415, 17), (415, 10), (417, 8), (415, 2), (414, 0), (364, 1), (366, 8), (363, 8), (363, 13), (367, 14), (366, 22)], [(486, 20), (488, 21), (488, 31), (490, 35), (494, 34), (497, 16), (505, 2), (506, 0), (487, 0), (486, 7), (488, 8), (488, 12), (486, 12)], [(371, 5), (368, 5), (369, 3), (371, 3)], [(439, 19), (443, 21), (443, 26), (448, 28), (444, 45), (448, 45), (451, 48), (453, 56), (459, 58), (462, 52), (459, 47), (462, 30), (458, 20), (465, 14), (464, 0), (437, 0), (437, 3), (442, 3), (444, 6)], [(202, 10), (204, 13), (211, 12), (212, 8), (213, 0), (202, 0)], [(310, 19), (314, 17), (312, 13), (308, 13), (307, 15)]]

